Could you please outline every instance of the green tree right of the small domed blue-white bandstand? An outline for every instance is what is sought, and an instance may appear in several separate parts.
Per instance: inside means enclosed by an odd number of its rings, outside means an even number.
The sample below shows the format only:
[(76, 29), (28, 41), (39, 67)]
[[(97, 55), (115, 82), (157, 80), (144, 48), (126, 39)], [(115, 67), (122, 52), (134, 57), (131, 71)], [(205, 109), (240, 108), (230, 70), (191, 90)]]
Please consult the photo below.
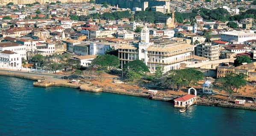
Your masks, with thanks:
[(238, 88), (246, 85), (245, 77), (246, 76), (244, 74), (226, 74), (225, 77), (221, 77), (216, 80), (216, 85), (226, 91), (231, 99), (235, 89), (238, 90)]

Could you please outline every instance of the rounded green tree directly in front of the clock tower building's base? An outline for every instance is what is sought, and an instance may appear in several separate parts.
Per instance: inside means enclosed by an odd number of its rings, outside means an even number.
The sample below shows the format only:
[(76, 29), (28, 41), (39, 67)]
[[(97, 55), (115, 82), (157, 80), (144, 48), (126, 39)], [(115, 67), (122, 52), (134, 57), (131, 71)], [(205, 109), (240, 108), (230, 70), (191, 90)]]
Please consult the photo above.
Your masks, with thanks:
[(141, 60), (133, 60), (124, 65), (124, 71), (134, 71), (139, 74), (144, 74), (145, 72), (149, 72), (147, 65)]

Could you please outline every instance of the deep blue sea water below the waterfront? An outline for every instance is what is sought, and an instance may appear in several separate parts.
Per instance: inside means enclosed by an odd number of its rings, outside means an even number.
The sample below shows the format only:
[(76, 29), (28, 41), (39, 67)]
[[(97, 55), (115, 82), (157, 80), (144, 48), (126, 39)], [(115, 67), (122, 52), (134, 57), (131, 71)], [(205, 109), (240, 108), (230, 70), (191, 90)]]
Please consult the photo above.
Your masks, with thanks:
[(256, 136), (256, 111), (37, 88), (0, 76), (0, 136)]

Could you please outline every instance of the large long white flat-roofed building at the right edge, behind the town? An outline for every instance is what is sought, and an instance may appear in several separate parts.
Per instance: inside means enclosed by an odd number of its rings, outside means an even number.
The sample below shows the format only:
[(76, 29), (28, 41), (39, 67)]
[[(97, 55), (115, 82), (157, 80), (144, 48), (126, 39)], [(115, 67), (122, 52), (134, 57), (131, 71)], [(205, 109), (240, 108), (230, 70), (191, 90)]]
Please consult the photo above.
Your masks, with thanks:
[(221, 33), (221, 41), (232, 44), (244, 44), (248, 40), (256, 40), (256, 34), (250, 31), (227, 31)]

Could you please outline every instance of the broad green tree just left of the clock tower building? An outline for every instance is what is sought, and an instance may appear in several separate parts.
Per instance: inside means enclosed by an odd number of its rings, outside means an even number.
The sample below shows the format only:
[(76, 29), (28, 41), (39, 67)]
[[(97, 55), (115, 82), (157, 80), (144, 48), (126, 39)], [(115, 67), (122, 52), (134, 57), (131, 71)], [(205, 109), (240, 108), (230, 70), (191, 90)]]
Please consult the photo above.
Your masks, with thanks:
[(102, 70), (109, 71), (112, 68), (118, 68), (119, 59), (114, 55), (99, 55), (92, 60), (91, 65), (97, 66), (97, 68), (100, 68)]

